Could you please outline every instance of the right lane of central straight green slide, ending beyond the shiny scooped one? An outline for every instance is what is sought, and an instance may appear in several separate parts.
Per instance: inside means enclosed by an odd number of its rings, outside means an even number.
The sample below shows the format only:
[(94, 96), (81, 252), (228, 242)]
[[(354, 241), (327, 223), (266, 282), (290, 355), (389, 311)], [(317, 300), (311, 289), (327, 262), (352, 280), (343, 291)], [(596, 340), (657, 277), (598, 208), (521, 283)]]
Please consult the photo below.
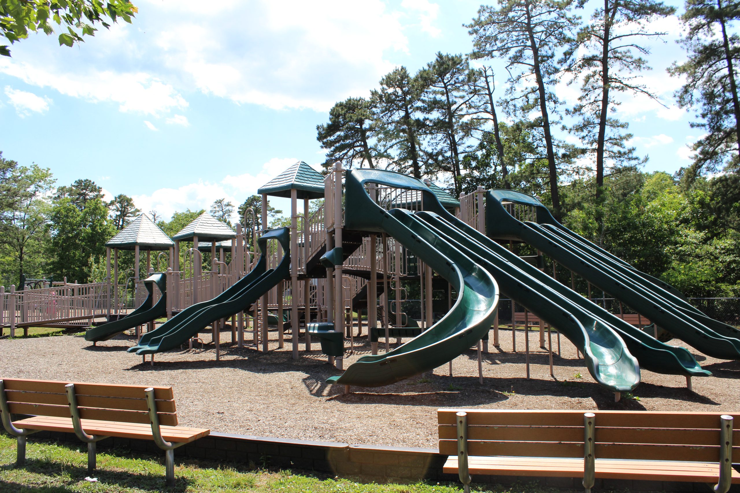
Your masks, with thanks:
[[(570, 302), (578, 305), (588, 313), (593, 314), (603, 322), (607, 323), (613, 330), (619, 333), (619, 336), (625, 341), (630, 353), (635, 356), (640, 364), (646, 370), (656, 373), (665, 373), (669, 375), (684, 376), (707, 376), (711, 373), (703, 370), (696, 362), (693, 355), (683, 347), (671, 346), (654, 339), (652, 336), (644, 333), (642, 330), (633, 327), (624, 320), (610, 313), (608, 310), (596, 305), (586, 299), (579, 293), (557, 282), (556, 279), (540, 271), (534, 265), (523, 261), (516, 254), (502, 247), (494, 240), (486, 237), (480, 231), (471, 228), (465, 222), (460, 221), (457, 217), (452, 216), (443, 208), (437, 208), (437, 214), (454, 228), (468, 234), (468, 237), (474, 239), (484, 251), (490, 251), (491, 254), (497, 254), (503, 261), (517, 266), (519, 270), (524, 271), (531, 276), (536, 282), (547, 286), (560, 296), (565, 297)], [(488, 258), (488, 257), (486, 257)]]

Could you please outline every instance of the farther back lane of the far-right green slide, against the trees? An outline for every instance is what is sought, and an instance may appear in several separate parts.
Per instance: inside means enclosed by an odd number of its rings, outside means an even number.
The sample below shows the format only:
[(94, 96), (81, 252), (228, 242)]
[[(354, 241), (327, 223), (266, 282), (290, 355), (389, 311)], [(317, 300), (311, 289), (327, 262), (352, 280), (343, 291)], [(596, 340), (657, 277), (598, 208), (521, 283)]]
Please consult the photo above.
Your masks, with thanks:
[[(535, 225), (536, 223), (532, 223)], [(542, 225), (540, 225), (542, 228)], [(643, 272), (637, 271), (634, 268), (625, 269), (621, 266), (614, 265), (613, 262), (608, 262), (604, 260), (604, 257), (599, 255), (599, 251), (591, 248), (590, 245), (583, 243), (587, 240), (583, 240), (581, 242), (574, 242), (572, 240), (571, 235), (564, 234), (561, 228), (556, 228), (552, 225), (545, 225), (545, 230), (549, 233), (556, 236), (558, 239), (562, 241), (565, 245), (569, 245), (571, 248), (578, 249), (579, 251), (585, 251), (589, 255), (591, 255), (594, 259), (594, 262), (599, 262), (597, 265), (607, 265), (610, 268), (613, 268), (615, 271), (622, 273), (625, 278), (630, 279), (632, 282), (634, 282), (636, 285), (639, 285), (641, 288), (649, 291), (650, 293), (655, 293), (657, 296), (660, 296), (662, 299), (665, 299), (667, 303), (675, 307), (676, 310), (679, 310), (681, 313), (684, 313), (693, 319), (695, 319), (697, 322), (700, 322), (705, 327), (709, 327), (711, 330), (714, 330), (716, 333), (718, 333), (720, 336), (729, 337), (733, 339), (740, 339), (740, 330), (736, 329), (735, 327), (725, 324), (724, 322), (719, 322), (719, 320), (712, 319), (704, 313), (702, 313), (701, 310), (694, 307), (693, 305), (690, 305), (684, 296), (676, 296), (673, 293), (673, 290), (666, 289), (665, 282), (655, 282), (653, 281), (653, 276), (649, 276), (648, 274), (645, 274)], [(593, 244), (591, 244), (593, 245)], [(593, 245), (596, 246), (596, 245)], [(664, 327), (665, 328), (665, 327)]]

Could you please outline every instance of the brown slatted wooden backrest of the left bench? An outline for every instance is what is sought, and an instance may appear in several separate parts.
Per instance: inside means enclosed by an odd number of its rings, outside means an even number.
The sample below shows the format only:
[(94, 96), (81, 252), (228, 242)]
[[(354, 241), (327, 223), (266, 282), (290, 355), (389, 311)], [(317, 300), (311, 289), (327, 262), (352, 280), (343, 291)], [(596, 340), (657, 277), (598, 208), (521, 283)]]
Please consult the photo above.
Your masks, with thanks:
[[(146, 385), (84, 384), (70, 381), (3, 378), (8, 410), (12, 414), (71, 418), (67, 384), (75, 384), (80, 418), (126, 423), (149, 423)], [(159, 423), (177, 426), (172, 387), (154, 389)]]

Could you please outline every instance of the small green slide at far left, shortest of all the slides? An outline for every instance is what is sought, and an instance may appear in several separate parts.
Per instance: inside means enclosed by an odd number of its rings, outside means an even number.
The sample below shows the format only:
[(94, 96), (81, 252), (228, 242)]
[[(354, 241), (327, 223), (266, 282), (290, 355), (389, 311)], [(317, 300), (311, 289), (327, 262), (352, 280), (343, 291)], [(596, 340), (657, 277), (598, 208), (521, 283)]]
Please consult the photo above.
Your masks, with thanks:
[[(157, 303), (152, 306), (154, 285), (157, 285), (162, 296)], [(152, 320), (166, 316), (167, 292), (164, 272), (152, 273), (151, 276), (144, 279), (144, 286), (147, 288), (147, 299), (144, 299), (141, 306), (121, 319), (113, 320), (112, 322), (107, 322), (85, 331), (85, 341), (107, 341), (108, 339), (118, 336), (118, 334), (124, 332), (124, 330), (129, 330), (138, 325), (144, 325), (147, 322), (152, 322)]]

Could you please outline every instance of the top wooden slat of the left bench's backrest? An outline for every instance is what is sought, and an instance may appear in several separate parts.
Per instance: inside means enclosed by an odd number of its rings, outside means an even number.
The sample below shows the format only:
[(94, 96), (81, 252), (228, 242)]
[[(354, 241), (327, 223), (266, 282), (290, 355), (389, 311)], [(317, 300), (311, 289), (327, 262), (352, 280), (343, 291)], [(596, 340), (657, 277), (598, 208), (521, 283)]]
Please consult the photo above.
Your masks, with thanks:
[[(64, 386), (75, 384), (77, 395), (97, 395), (99, 397), (144, 398), (144, 390), (152, 386), (126, 384), (85, 384), (75, 381), (30, 380), (27, 378), (3, 378), (5, 390), (26, 390), (28, 392), (50, 392), (64, 394)], [(174, 398), (172, 387), (152, 387), (155, 399), (171, 401)]]

